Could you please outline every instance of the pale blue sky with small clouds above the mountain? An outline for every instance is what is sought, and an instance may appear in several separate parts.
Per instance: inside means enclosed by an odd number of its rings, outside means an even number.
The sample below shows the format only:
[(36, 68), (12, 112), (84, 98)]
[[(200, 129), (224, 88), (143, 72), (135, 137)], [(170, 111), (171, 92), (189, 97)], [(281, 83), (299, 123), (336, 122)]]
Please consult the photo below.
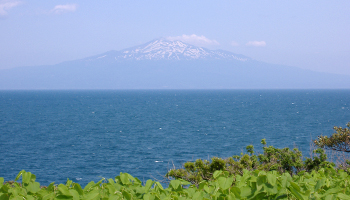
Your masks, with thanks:
[(52, 65), (160, 37), (350, 75), (349, 0), (0, 0), (0, 69)]

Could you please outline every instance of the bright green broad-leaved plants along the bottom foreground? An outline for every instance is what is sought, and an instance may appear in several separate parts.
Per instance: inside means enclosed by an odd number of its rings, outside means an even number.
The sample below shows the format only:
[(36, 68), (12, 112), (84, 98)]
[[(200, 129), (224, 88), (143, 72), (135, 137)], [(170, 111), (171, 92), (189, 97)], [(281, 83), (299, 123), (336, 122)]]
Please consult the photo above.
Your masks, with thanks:
[[(90, 182), (84, 188), (67, 180), (65, 184), (39, 187), (35, 176), (21, 171), (16, 180), (22, 183), (3, 184), (0, 178), (0, 199), (28, 200), (189, 200), (189, 199), (350, 199), (350, 176), (342, 170), (321, 168), (291, 176), (277, 171), (243, 170), (241, 175), (215, 171), (213, 179), (196, 187), (184, 180), (171, 180), (164, 188), (159, 182), (148, 180), (144, 185), (130, 174), (120, 173), (114, 179)], [(33, 188), (28, 187), (34, 183)], [(27, 184), (27, 185), (25, 185)]]

